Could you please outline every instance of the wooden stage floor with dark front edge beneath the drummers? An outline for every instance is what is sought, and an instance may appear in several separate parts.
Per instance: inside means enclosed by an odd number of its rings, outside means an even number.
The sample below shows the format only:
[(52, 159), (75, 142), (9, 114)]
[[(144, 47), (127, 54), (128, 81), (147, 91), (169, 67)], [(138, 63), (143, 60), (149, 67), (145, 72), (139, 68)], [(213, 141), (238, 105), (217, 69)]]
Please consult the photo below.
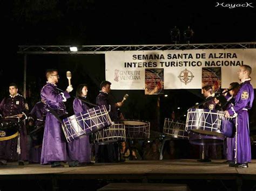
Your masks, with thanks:
[(180, 183), (190, 190), (255, 190), (256, 160), (248, 168), (228, 167), (225, 160), (140, 160), (85, 167), (10, 162), (0, 166), (0, 190), (15, 186), (37, 190), (97, 190), (113, 182)]

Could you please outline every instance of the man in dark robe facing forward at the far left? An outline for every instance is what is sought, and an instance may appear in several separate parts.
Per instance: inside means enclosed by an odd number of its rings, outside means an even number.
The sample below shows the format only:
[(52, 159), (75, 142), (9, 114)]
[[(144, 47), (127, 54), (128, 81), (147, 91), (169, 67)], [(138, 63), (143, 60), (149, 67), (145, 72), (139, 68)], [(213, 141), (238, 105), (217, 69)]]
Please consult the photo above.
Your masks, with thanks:
[(6, 165), (7, 161), (17, 161), (24, 165), (27, 159), (27, 137), (25, 128), (26, 114), (29, 110), (28, 104), (22, 95), (18, 94), (18, 87), (15, 83), (9, 85), (10, 96), (5, 97), (0, 105), (0, 112), (3, 120), (19, 124), (19, 136), (0, 141), (0, 165)]

